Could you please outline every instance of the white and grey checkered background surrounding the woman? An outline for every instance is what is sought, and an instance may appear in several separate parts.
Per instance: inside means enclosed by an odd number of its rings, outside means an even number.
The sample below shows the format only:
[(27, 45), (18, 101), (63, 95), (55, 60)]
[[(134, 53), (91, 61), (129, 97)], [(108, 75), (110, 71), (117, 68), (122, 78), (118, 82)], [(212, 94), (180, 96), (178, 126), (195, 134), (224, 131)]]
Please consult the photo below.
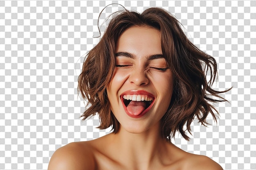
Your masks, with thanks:
[[(256, 169), (255, 0), (0, 0), (0, 169), (46, 170), (57, 148), (109, 133), (96, 128), (97, 116), (81, 122), (77, 78), (111, 3), (173, 13), (218, 61), (215, 88), (233, 86), (223, 95), (230, 104), (217, 105), (217, 126), (195, 122), (190, 142), (180, 135), (173, 142), (225, 170)], [(118, 9), (108, 7), (100, 24)]]

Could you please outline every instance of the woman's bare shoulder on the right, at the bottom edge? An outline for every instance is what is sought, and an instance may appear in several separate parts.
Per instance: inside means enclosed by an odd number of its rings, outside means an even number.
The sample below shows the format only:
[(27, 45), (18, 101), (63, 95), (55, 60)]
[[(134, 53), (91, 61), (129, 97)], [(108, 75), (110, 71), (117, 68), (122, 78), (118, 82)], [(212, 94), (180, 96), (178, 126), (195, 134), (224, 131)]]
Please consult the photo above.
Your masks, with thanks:
[(223, 168), (211, 158), (194, 154), (191, 154), (187, 168), (190, 170), (223, 170)]

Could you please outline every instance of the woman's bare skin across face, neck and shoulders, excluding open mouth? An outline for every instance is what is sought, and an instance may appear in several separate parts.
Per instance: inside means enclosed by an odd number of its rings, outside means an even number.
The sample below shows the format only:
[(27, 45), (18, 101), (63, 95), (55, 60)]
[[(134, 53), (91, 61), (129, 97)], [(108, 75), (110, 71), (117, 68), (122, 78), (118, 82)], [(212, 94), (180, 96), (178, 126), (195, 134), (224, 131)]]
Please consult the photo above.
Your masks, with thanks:
[[(48, 170), (223, 170), (210, 158), (187, 153), (160, 135), (160, 120), (171, 101), (173, 82), (165, 59), (159, 57), (159, 31), (146, 26), (128, 28), (119, 38), (118, 52), (121, 56), (107, 92), (119, 131), (59, 148)], [(132, 92), (153, 96), (145, 115), (128, 113), (122, 104), (122, 97), (134, 95)]]

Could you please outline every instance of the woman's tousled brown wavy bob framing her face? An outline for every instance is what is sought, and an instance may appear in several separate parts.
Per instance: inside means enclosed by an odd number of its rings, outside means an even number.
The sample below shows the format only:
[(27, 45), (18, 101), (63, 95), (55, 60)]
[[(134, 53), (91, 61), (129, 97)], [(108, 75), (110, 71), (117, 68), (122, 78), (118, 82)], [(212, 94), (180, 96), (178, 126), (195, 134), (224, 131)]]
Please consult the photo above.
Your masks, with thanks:
[(79, 75), (78, 89), (87, 102), (87, 109), (81, 117), (85, 120), (98, 113), (100, 129), (112, 126), (114, 133), (119, 130), (106, 87), (115, 70), (117, 40), (131, 26), (149, 26), (161, 32), (162, 52), (174, 76), (171, 103), (161, 119), (162, 137), (170, 141), (179, 131), (184, 139), (189, 140), (186, 131), (191, 133), (194, 118), (206, 126), (210, 113), (216, 121), (218, 111), (212, 103), (227, 101), (220, 94), (229, 89), (216, 91), (211, 88), (217, 76), (216, 60), (189, 41), (182, 25), (171, 13), (157, 7), (146, 9), (141, 14), (126, 9), (112, 14), (99, 43), (85, 57)]

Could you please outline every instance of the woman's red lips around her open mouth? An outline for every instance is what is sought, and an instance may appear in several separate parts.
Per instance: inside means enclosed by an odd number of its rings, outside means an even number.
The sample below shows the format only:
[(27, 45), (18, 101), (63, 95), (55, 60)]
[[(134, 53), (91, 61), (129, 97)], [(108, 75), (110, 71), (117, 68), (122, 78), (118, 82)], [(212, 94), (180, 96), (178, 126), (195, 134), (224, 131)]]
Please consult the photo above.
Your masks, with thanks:
[[(124, 104), (124, 98), (123, 96), (125, 94), (144, 94), (144, 95), (148, 95), (150, 97), (153, 97), (154, 100), (153, 102), (151, 103), (151, 105), (145, 109), (142, 113), (140, 113), (138, 116), (134, 116), (134, 115), (131, 115), (128, 111), (127, 111), (127, 107), (126, 105)], [(128, 90), (126, 92), (123, 92), (121, 95), (120, 95), (120, 99), (122, 101), (122, 105), (124, 107), (124, 111), (126, 112), (126, 114), (132, 118), (141, 118), (142, 116), (144, 116), (153, 106), (153, 104), (155, 103), (155, 96), (153, 94), (151, 94), (150, 92), (147, 92), (147, 91), (144, 91), (144, 90)]]

